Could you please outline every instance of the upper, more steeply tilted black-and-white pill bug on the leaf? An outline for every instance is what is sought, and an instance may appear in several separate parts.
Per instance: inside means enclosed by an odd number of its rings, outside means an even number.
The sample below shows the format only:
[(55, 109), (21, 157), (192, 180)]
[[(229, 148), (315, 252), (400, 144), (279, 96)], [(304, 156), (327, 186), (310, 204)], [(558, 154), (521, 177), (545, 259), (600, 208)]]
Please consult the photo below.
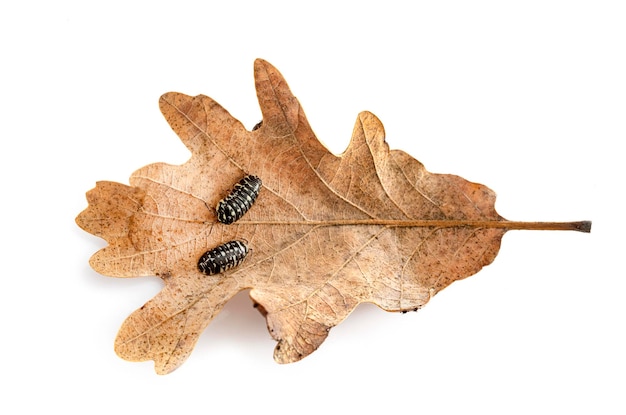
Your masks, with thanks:
[(217, 220), (225, 225), (237, 222), (252, 207), (252, 204), (261, 190), (261, 179), (248, 175), (241, 179), (228, 196), (220, 200), (217, 210)]

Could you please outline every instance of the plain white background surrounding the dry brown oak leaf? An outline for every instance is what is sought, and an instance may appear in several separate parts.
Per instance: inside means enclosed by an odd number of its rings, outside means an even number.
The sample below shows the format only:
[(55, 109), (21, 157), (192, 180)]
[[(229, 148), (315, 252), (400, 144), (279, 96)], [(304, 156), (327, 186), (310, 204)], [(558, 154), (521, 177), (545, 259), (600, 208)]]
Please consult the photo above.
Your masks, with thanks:
[[(3, 2), (0, 412), (623, 414), (621, 4)], [(592, 233), (509, 232), (418, 313), (361, 306), (299, 363), (274, 363), (246, 293), (172, 374), (123, 361), (117, 329), (160, 280), (89, 268), (105, 243), (74, 223), (85, 192), (187, 159), (165, 92), (251, 128), (257, 57), (335, 153), (369, 110), (391, 148), (486, 184), (504, 217)]]

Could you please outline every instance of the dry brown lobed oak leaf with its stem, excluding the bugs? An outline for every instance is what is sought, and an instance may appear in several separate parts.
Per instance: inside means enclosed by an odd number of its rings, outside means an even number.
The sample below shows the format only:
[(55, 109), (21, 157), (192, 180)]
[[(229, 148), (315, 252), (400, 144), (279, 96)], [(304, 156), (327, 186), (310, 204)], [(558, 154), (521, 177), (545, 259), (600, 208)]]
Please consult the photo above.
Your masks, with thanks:
[[(359, 114), (347, 150), (331, 154), (281, 74), (257, 60), (254, 75), (259, 128), (246, 130), (209, 97), (167, 93), (161, 111), (189, 161), (151, 164), (130, 186), (99, 182), (87, 193), (76, 221), (108, 242), (91, 258), (93, 269), (157, 275), (165, 284), (122, 325), (115, 341), (122, 358), (173, 371), (224, 304), (251, 289), (278, 341), (275, 360), (295, 362), (360, 303), (418, 309), (491, 263), (508, 229), (546, 228), (506, 221), (487, 187), (429, 173), (390, 151), (371, 113)], [(246, 174), (263, 180), (256, 203), (235, 224), (219, 223), (214, 206)], [(211, 276), (198, 271), (205, 251), (235, 239), (251, 249), (243, 264)]]

